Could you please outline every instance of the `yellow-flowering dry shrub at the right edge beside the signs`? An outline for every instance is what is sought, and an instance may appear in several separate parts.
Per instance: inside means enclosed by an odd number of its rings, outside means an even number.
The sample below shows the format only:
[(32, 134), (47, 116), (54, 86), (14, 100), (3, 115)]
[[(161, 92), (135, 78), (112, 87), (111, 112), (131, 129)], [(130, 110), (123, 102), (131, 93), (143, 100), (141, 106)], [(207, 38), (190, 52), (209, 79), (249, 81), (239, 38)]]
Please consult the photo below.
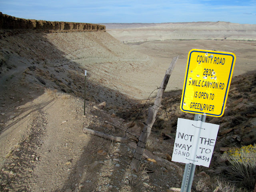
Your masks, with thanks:
[(256, 144), (229, 150), (222, 155), (222, 158), (228, 159), (231, 164), (231, 168), (228, 169), (228, 180), (238, 182), (240, 187), (254, 188), (256, 180)]

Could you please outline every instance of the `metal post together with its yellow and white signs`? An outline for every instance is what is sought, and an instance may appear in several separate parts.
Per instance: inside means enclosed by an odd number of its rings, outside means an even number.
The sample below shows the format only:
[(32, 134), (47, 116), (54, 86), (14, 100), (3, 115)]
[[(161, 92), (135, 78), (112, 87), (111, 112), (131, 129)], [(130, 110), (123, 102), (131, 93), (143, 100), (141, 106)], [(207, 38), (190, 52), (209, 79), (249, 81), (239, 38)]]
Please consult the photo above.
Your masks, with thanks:
[(206, 115), (223, 115), (235, 62), (236, 55), (229, 52), (192, 49), (188, 53), (180, 109), (194, 113), (195, 122), (178, 118), (172, 155), (172, 161), (186, 163), (181, 192), (190, 192), (196, 165), (210, 165), (219, 125), (206, 123)]

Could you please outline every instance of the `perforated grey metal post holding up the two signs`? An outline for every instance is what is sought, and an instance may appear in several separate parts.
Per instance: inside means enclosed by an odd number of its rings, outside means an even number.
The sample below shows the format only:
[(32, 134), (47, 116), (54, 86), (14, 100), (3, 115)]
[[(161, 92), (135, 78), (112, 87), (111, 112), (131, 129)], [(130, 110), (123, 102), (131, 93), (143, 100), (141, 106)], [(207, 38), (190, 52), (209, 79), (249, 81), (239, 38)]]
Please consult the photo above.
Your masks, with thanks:
[[(205, 122), (206, 115), (195, 114), (194, 121), (198, 121), (198, 120)], [(180, 192), (190, 192), (191, 191), (195, 170), (196, 170), (195, 164), (187, 163), (185, 165)]]

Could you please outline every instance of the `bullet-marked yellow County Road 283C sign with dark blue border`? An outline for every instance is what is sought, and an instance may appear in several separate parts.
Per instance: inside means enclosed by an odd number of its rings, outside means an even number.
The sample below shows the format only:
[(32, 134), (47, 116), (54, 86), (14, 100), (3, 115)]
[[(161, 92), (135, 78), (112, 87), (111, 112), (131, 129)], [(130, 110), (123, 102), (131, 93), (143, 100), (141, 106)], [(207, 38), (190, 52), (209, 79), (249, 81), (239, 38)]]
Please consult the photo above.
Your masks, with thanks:
[(224, 113), (236, 55), (192, 49), (182, 91), (183, 112), (220, 117)]

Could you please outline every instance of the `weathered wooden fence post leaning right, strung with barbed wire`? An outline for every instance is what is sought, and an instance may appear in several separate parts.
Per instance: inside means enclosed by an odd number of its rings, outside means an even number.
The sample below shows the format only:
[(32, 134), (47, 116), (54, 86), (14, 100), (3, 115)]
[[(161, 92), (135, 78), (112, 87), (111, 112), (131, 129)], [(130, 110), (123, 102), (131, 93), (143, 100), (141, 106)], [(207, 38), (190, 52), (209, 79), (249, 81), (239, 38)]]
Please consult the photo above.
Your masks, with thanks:
[(174, 69), (174, 66), (178, 60), (178, 57), (173, 58), (169, 68), (166, 70), (164, 80), (162, 81), (162, 84), (160, 85), (160, 88), (158, 89), (156, 100), (154, 102), (154, 105), (148, 109), (148, 119), (146, 122), (146, 125), (144, 126), (144, 129), (142, 130), (142, 133), (140, 135), (139, 142), (137, 144), (136, 152), (133, 156), (130, 169), (135, 170), (136, 172), (139, 171), (140, 167), (140, 160), (142, 157), (142, 154), (144, 153), (144, 149), (146, 146), (146, 142), (148, 140), (148, 136), (151, 133), (151, 128), (156, 120), (156, 114), (161, 107), (161, 101), (163, 97), (164, 90), (166, 89), (166, 86), (168, 84), (169, 78), (172, 74), (172, 70)]

